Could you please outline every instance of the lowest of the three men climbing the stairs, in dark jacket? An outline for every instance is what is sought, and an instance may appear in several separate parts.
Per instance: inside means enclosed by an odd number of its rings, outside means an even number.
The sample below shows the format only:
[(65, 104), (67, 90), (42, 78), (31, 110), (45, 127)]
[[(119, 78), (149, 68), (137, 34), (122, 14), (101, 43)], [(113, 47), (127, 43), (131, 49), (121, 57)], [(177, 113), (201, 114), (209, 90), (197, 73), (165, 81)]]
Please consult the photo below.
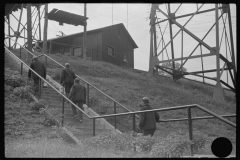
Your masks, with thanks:
[[(71, 88), (71, 91), (70, 91), (70, 94), (69, 94), (68, 98), (73, 103), (78, 105), (79, 108), (84, 110), (83, 109), (83, 104), (86, 104), (86, 88), (83, 85), (81, 85), (79, 83), (79, 81), (80, 80), (78, 78), (76, 78), (74, 80), (74, 85)], [(71, 105), (71, 107), (72, 107), (72, 111), (73, 111), (73, 118), (77, 118), (76, 108), (73, 105)], [(82, 116), (83, 116), (83, 113), (78, 110), (78, 117), (79, 117), (80, 123), (82, 123)]]

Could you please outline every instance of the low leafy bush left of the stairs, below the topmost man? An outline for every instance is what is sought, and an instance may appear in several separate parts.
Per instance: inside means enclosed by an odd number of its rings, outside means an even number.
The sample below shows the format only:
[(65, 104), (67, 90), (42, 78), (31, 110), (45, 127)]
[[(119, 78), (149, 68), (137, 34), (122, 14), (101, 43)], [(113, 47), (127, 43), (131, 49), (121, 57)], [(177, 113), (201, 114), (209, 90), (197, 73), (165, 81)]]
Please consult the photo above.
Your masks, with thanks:
[(30, 96), (31, 93), (33, 93), (33, 91), (30, 86), (16, 87), (13, 89), (13, 95), (29, 101), (32, 99)]

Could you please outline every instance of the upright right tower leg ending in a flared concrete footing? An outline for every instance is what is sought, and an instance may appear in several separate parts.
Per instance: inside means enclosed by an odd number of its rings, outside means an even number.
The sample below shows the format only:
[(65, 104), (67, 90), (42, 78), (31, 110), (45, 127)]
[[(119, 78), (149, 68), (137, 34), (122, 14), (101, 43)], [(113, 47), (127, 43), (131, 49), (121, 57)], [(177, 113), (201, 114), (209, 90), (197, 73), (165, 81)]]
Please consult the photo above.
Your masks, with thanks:
[(217, 68), (217, 83), (214, 88), (213, 99), (224, 101), (224, 91), (220, 82), (220, 55), (219, 55), (219, 21), (218, 21), (218, 4), (215, 4), (215, 16), (216, 16), (216, 68)]

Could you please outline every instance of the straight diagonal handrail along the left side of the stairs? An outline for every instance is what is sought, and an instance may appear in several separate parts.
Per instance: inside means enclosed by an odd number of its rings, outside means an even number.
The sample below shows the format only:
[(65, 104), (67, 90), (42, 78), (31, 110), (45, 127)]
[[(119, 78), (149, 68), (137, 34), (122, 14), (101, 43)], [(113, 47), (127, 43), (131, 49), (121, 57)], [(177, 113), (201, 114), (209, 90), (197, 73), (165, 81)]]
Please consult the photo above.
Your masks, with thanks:
[(28, 69), (30, 69), (34, 74), (36, 74), (41, 80), (43, 80), (45, 83), (47, 83), (51, 88), (53, 88), (55, 91), (57, 91), (58, 94), (60, 94), (62, 97), (64, 97), (68, 102), (70, 102), (74, 107), (76, 107), (78, 110), (80, 110), (84, 115), (86, 115), (88, 118), (91, 118), (89, 115), (87, 115), (81, 108), (79, 108), (76, 104), (74, 104), (70, 99), (68, 99), (64, 94), (62, 94), (60, 91), (58, 91), (54, 86), (52, 86), (48, 81), (46, 81), (44, 78), (42, 78), (39, 74), (37, 74), (32, 68), (30, 68), (25, 62), (23, 62), (21, 59), (19, 59), (14, 53), (9, 51), (6, 47), (4, 47), (8, 53), (11, 53), (15, 58), (17, 58), (18, 61), (20, 61), (22, 64), (24, 64)]

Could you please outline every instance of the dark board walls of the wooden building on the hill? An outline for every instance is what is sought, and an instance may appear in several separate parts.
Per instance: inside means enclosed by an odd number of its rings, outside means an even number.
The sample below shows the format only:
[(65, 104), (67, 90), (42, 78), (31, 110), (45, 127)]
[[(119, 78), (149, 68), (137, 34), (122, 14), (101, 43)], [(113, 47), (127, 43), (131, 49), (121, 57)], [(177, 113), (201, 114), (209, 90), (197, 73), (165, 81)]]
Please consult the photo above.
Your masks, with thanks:
[[(74, 35), (52, 41), (51, 53), (70, 53), (73, 55), (74, 48), (82, 47), (82, 35)], [(56, 44), (62, 43), (62, 44)], [(67, 44), (67, 45), (63, 45)], [(108, 46), (114, 48), (114, 57), (108, 55)], [(87, 55), (92, 54), (92, 60), (109, 62), (118, 66), (134, 68), (134, 48), (125, 32), (119, 26), (112, 26), (102, 31), (90, 32), (86, 40)], [(123, 61), (124, 54), (128, 56), (128, 63)]]

